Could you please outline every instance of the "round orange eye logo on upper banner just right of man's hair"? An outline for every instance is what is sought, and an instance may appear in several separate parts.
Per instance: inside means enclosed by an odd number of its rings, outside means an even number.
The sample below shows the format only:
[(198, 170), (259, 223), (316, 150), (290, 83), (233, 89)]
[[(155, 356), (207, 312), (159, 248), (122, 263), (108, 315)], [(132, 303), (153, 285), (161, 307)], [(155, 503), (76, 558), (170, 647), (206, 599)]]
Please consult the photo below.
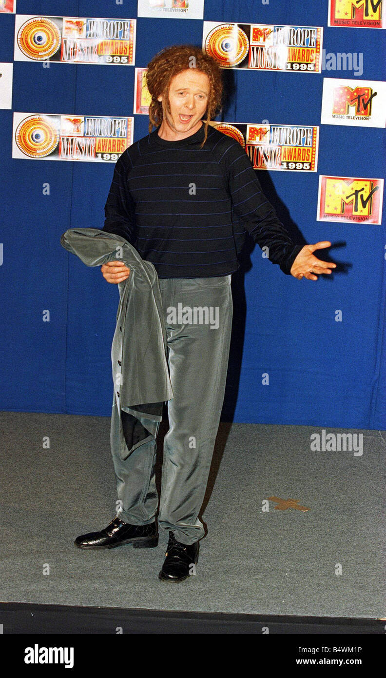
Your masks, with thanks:
[(222, 68), (240, 64), (249, 50), (249, 39), (240, 26), (221, 24), (213, 28), (205, 40), (205, 51)]

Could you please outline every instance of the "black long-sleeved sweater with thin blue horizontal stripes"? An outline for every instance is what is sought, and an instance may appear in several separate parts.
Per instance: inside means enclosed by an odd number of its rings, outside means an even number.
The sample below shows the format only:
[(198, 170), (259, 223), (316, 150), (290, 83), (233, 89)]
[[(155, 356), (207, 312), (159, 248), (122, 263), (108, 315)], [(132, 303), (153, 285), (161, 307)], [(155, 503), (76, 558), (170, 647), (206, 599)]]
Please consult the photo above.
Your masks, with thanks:
[(244, 231), (289, 275), (301, 245), (278, 220), (242, 146), (211, 126), (203, 148), (204, 125), (179, 141), (158, 129), (116, 161), (103, 230), (127, 239), (160, 278), (233, 273)]

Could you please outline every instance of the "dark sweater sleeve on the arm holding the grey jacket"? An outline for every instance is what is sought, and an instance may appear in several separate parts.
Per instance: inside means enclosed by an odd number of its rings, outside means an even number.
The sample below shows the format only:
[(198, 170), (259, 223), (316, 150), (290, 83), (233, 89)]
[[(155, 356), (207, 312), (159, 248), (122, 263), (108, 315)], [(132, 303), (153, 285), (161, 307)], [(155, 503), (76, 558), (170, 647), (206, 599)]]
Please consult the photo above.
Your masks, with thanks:
[(120, 235), (135, 247), (134, 205), (127, 187), (129, 169), (131, 161), (125, 152), (115, 163), (110, 192), (104, 207), (105, 220), (102, 231)]

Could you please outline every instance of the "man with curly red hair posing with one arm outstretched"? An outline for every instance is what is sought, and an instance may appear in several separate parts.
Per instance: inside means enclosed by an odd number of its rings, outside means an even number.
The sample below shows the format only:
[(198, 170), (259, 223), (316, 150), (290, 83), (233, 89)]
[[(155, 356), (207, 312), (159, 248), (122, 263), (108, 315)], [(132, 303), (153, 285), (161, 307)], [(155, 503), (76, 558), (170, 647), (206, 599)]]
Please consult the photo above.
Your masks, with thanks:
[[(174, 395), (167, 403), (158, 513), (169, 543), (158, 576), (180, 582), (195, 574), (198, 540), (205, 534), (198, 513), (226, 384), (230, 280), (240, 266), (233, 214), (286, 275), (316, 280), (315, 274), (331, 273), (335, 264), (313, 254), (328, 241), (304, 247), (293, 242), (243, 148), (209, 125), (223, 93), (211, 57), (192, 45), (163, 49), (148, 64), (147, 84), (149, 134), (116, 162), (104, 231), (127, 239), (158, 274)], [(104, 264), (102, 274), (120, 283), (130, 271), (115, 261)], [(113, 454), (121, 508), (104, 530), (78, 537), (77, 546), (156, 545), (155, 460), (156, 441), (138, 446), (125, 460)]]

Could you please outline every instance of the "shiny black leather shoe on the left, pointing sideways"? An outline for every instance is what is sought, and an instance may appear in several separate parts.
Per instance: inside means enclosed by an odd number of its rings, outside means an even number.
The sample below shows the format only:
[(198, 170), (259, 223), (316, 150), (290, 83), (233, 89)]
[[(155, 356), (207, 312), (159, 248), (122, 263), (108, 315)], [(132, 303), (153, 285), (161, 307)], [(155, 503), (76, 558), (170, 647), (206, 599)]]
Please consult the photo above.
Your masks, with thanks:
[(131, 525), (115, 517), (104, 530), (81, 534), (74, 541), (79, 549), (114, 549), (121, 544), (133, 544), (134, 549), (152, 549), (158, 546), (156, 522)]

